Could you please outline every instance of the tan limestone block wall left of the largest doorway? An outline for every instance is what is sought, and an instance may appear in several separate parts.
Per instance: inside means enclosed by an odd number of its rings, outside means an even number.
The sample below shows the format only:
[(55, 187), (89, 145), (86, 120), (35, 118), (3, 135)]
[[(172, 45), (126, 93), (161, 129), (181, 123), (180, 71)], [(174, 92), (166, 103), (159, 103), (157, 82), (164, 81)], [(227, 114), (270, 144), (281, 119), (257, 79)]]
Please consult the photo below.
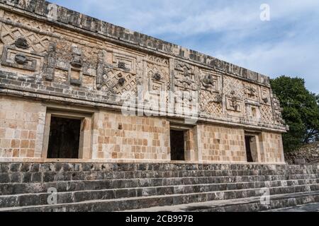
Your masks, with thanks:
[(41, 157), (45, 107), (0, 96), (0, 158)]

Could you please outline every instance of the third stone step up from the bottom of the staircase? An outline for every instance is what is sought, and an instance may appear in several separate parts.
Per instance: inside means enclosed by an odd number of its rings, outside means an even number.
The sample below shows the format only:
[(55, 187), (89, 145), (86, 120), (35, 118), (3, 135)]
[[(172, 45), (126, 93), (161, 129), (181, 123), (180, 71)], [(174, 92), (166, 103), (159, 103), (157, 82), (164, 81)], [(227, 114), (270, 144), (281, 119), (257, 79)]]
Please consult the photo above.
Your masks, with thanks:
[[(270, 184), (269, 184), (270, 185)], [(266, 186), (265, 183), (229, 183), (229, 184), (196, 184), (179, 186), (150, 186), (129, 189), (103, 189), (90, 191), (68, 191), (57, 194), (58, 203), (75, 203), (90, 200), (130, 198), (141, 196), (166, 196), (172, 194), (202, 194), (215, 191), (225, 199), (257, 196)], [(304, 191), (319, 191), (319, 184), (288, 186), (287, 182), (274, 183), (269, 187), (270, 194), (283, 194)], [(226, 196), (227, 194), (227, 196)], [(45, 205), (50, 194), (18, 194), (0, 196), (0, 207)]]

